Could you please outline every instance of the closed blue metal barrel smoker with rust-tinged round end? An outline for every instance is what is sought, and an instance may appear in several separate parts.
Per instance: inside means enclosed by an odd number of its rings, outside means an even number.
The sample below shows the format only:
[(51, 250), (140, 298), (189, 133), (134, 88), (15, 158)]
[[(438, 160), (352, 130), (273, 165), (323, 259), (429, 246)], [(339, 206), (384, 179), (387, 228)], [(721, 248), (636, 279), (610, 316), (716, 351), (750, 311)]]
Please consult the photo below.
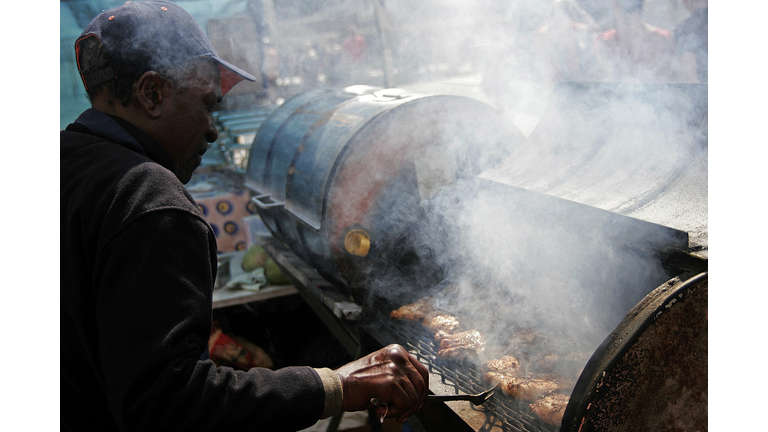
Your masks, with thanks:
[(403, 272), (430, 257), (393, 246), (424, 220), (419, 202), (457, 175), (497, 163), (510, 136), (521, 139), (500, 120), (490, 106), (455, 96), (310, 91), (259, 129), (246, 186), (275, 236), (362, 301), (359, 288), (377, 263), (394, 263), (388, 271), (406, 279), (440, 279), (433, 265)]

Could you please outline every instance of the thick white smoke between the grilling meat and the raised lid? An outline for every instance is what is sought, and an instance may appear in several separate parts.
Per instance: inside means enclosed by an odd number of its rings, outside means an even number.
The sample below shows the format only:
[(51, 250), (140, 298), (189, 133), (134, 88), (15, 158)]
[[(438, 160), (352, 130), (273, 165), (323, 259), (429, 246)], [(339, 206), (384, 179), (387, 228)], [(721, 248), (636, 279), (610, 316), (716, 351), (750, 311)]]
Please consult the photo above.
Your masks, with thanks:
[(481, 179), (431, 200), (432, 228), (420, 231), (420, 244), (445, 269), (447, 283), (434, 293), (442, 306), (500, 345), (528, 328), (592, 350), (668, 278), (601, 215), (579, 218), (557, 204)]

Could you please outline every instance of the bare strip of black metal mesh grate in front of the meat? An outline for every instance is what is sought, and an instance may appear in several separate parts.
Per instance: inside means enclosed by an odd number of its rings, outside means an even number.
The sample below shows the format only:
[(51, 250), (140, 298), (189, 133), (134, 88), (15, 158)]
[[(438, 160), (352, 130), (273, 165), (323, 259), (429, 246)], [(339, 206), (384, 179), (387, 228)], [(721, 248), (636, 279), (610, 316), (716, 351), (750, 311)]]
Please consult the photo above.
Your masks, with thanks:
[[(382, 334), (384, 333), (384, 334)], [(477, 365), (470, 363), (446, 363), (435, 359), (437, 354), (433, 335), (423, 327), (408, 322), (386, 320), (383, 329), (372, 332), (379, 334), (386, 343), (398, 343), (422, 362), (429, 372), (440, 375), (446, 386), (452, 386), (456, 394), (476, 394), (488, 388), (483, 373)], [(527, 402), (519, 402), (503, 394), (491, 398), (481, 407), (472, 407), (485, 413), (486, 420), (481, 431), (504, 432), (554, 432), (558, 428), (542, 423), (529, 410)]]

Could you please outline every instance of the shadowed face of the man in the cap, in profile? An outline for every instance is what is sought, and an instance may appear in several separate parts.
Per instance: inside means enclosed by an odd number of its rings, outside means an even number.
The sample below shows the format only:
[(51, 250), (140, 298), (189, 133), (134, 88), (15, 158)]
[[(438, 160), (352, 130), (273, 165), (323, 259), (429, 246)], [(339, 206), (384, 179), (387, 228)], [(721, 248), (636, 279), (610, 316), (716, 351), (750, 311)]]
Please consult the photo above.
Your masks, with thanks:
[(208, 59), (194, 61), (170, 84), (168, 110), (155, 138), (171, 156), (173, 172), (186, 184), (200, 166), (208, 143), (218, 138), (211, 113), (221, 101), (219, 69)]

